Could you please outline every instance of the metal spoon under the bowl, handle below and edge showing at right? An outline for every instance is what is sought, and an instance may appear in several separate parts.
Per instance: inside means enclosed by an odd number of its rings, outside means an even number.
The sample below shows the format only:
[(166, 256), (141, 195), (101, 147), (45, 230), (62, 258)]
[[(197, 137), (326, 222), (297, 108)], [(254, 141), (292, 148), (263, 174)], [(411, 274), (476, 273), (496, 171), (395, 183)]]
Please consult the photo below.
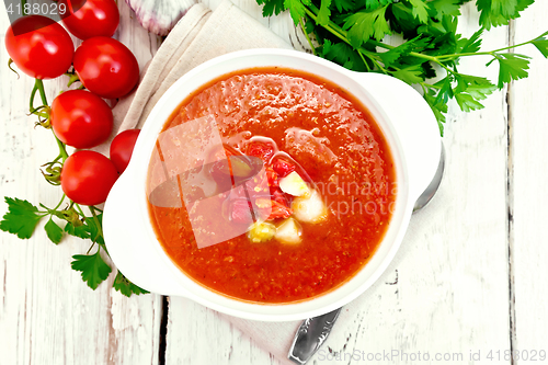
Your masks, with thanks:
[[(442, 153), (439, 156), (439, 164), (437, 166), (436, 173), (430, 185), (424, 190), (424, 192), (419, 196), (414, 206), (413, 213), (422, 209), (432, 197), (435, 195), (445, 169), (445, 148), (442, 144)], [(295, 340), (293, 340), (292, 347), (289, 349), (289, 358), (295, 364), (304, 365), (308, 362), (310, 357), (321, 347), (323, 342), (328, 339), (331, 329), (333, 328), (341, 308), (338, 308), (329, 313), (321, 315), (318, 317), (307, 318), (302, 321), (299, 329), (295, 333)]]

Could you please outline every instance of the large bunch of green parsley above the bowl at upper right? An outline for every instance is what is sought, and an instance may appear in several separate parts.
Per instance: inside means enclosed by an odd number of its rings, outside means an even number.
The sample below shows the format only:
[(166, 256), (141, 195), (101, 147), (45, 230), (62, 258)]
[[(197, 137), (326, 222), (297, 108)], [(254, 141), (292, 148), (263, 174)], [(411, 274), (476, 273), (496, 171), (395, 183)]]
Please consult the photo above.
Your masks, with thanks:
[[(289, 10), (315, 55), (354, 71), (383, 72), (420, 85), (442, 136), (448, 100), (465, 112), (476, 111), (498, 88), (527, 77), (529, 57), (512, 53), (513, 48), (532, 44), (548, 58), (548, 32), (522, 44), (480, 52), (484, 31), (507, 25), (534, 0), (477, 0), (479, 28), (467, 38), (457, 33), (457, 24), (460, 7), (468, 1), (256, 0), (264, 16)], [(393, 34), (404, 42), (399, 46), (383, 42)], [(480, 55), (491, 57), (486, 66), (499, 65), (496, 84), (459, 71), (461, 57)]]

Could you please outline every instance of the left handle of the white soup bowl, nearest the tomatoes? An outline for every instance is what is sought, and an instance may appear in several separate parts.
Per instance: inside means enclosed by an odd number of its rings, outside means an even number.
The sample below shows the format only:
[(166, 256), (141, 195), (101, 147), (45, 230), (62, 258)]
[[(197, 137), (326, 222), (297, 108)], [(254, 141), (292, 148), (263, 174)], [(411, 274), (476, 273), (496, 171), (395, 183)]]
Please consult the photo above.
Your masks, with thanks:
[(141, 217), (136, 208), (135, 179), (128, 168), (122, 174), (105, 202), (103, 236), (116, 267), (132, 281), (152, 293), (185, 296), (172, 277), (170, 269), (155, 248), (147, 242)]

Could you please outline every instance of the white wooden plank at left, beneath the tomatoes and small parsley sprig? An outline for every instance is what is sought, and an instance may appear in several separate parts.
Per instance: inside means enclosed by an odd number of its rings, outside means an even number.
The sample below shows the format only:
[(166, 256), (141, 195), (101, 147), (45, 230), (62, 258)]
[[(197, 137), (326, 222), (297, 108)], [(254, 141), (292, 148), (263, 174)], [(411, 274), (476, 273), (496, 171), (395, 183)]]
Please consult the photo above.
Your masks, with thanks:
[[(142, 65), (158, 47), (130, 19), (119, 2), (119, 38)], [(2, 12), (0, 30), (8, 28)], [(2, 33), (3, 44), (4, 33)], [(3, 48), (0, 61), (7, 65)], [(55, 206), (60, 189), (49, 186), (38, 167), (57, 155), (49, 132), (34, 128), (27, 113), (27, 98), (34, 80), (18, 80), (7, 67), (0, 68), (0, 190), (2, 196), (16, 196)], [(64, 88), (46, 81), (48, 100)], [(7, 209), (1, 204), (1, 215)], [(1, 232), (0, 353), (5, 364), (158, 364), (159, 328), (162, 317), (160, 296), (126, 298), (111, 288), (114, 275), (95, 292), (70, 269), (71, 255), (85, 253), (89, 241), (67, 238), (59, 247), (48, 242), (42, 226), (28, 241)]]

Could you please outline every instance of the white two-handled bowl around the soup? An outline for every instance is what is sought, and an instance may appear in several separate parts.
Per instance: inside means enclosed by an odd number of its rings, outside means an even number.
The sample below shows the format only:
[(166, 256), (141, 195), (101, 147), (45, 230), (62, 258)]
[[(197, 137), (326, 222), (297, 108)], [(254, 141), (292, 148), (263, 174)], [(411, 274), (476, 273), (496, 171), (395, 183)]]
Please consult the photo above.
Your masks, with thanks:
[[(295, 304), (251, 304), (219, 295), (186, 276), (157, 240), (147, 208), (148, 166), (158, 135), (173, 110), (204, 83), (253, 67), (279, 66), (328, 79), (372, 113), (392, 152), (398, 194), (388, 230), (369, 262), (338, 288)], [(187, 72), (158, 101), (139, 135), (132, 161), (105, 203), (103, 231), (109, 253), (124, 275), (153, 293), (189, 297), (212, 309), (254, 320), (286, 321), (334, 310), (362, 294), (386, 270), (406, 233), (415, 199), (434, 176), (441, 153), (436, 119), (408, 84), (379, 73), (349, 71), (316, 56), (251, 49), (212, 59)]]

